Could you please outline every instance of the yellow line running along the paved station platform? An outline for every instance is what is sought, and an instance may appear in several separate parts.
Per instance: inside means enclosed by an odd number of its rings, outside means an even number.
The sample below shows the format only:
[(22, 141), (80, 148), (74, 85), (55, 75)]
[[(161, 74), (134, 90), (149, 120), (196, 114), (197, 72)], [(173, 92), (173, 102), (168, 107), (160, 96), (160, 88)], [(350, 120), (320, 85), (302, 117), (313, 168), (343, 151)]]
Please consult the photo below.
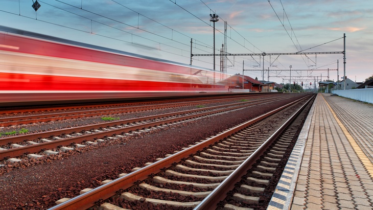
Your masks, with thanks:
[[(322, 94), (320, 94), (322, 96)], [(365, 170), (369, 173), (370, 178), (373, 178), (373, 164), (369, 160), (369, 158), (366, 156), (366, 154), (361, 150), (360, 146), (356, 143), (355, 139), (352, 137), (351, 134), (347, 131), (346, 127), (342, 124), (342, 122), (339, 120), (336, 113), (333, 111), (332, 107), (329, 105), (327, 100), (325, 100), (324, 96), (322, 96), (322, 99), (325, 101), (327, 106), (329, 107), (330, 111), (332, 112), (334, 119), (337, 121), (339, 127), (341, 127), (344, 135), (346, 136), (349, 144), (351, 144), (352, 148), (354, 149), (355, 153), (358, 155), (360, 161), (364, 165)]]

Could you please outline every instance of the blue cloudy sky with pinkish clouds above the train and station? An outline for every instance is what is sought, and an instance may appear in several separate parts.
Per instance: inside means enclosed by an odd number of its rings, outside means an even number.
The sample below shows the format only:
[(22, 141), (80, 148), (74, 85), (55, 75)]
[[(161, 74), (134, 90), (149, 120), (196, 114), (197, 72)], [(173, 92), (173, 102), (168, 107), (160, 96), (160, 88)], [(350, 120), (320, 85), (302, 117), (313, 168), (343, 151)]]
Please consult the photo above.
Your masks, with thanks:
[[(216, 71), (226, 21), (227, 53), (343, 52), (345, 46), (347, 78), (373, 76), (371, 0), (38, 0), (36, 12), (33, 2), (3, 0), (0, 25), (188, 65), (191, 40), (193, 54), (213, 54), (210, 14), (216, 14)], [(192, 59), (209, 69), (213, 63), (213, 56)], [(266, 55), (264, 62), (263, 56), (227, 56), (228, 74), (244, 69), (268, 81), (269, 73), (277, 83), (288, 83), (290, 73), (298, 84), (327, 80), (328, 68), (330, 80), (337, 81), (337, 68), (343, 77), (343, 54)]]

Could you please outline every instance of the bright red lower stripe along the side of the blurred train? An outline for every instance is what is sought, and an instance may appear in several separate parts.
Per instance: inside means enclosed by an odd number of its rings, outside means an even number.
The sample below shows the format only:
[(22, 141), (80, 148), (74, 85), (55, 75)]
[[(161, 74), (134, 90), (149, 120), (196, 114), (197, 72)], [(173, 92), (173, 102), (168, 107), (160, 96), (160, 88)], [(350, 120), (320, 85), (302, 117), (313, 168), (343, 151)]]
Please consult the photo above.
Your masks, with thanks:
[(185, 91), (211, 85), (0, 73), (1, 90)]

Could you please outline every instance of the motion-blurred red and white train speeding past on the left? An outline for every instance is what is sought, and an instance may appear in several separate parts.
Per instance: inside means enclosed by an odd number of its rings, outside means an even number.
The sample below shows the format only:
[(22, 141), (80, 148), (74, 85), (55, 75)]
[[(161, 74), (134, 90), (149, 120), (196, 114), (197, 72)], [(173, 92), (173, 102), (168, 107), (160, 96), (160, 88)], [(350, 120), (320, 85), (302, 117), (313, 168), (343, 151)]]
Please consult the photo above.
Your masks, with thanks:
[(228, 92), (196, 66), (0, 26), (0, 106)]

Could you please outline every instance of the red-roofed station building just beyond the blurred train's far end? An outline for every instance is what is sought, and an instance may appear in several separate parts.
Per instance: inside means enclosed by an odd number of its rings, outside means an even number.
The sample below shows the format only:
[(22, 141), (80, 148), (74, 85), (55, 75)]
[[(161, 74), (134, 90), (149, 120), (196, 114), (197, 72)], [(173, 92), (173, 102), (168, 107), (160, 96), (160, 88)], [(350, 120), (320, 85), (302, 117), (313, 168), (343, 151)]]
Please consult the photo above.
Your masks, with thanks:
[[(235, 74), (222, 81), (230, 89), (249, 89), (253, 92), (269, 92), (269, 85), (263, 84), (249, 76)], [(242, 87), (243, 84), (243, 87)]]

